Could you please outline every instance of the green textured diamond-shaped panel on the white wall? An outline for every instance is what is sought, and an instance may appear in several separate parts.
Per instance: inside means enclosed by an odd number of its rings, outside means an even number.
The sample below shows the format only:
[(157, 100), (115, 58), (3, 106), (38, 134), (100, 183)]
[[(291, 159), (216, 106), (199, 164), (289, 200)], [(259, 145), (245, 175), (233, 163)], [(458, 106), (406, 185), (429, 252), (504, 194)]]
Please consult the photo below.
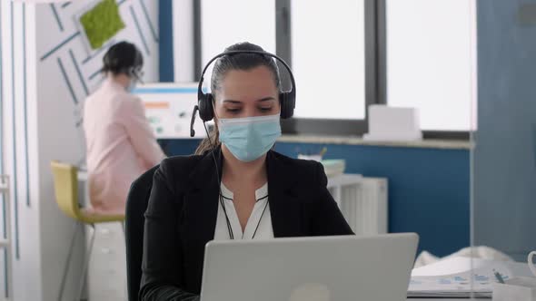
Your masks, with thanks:
[(98, 49), (124, 28), (115, 0), (103, 0), (80, 17), (92, 49)]

